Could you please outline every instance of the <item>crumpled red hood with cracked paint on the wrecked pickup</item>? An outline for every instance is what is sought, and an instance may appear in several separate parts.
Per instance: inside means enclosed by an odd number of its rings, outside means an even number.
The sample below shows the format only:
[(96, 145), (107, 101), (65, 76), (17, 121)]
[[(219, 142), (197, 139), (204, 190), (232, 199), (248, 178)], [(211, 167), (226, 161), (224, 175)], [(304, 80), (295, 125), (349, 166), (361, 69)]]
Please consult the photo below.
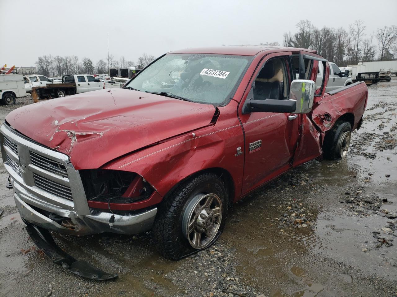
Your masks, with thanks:
[(123, 154), (210, 124), (212, 105), (128, 89), (107, 89), (34, 103), (6, 121), (70, 157), (76, 169), (99, 168)]

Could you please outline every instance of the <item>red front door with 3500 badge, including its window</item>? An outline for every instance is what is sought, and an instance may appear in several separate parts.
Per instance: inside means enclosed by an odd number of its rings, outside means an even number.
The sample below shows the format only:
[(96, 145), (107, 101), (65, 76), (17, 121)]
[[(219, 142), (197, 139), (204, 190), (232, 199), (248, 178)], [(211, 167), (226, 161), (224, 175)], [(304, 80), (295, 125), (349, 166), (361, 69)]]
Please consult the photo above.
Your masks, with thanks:
[(291, 52), (266, 55), (240, 104), (239, 118), (245, 134), (242, 194), (291, 168), (291, 156), (299, 137), (299, 116), (247, 110), (252, 98), (288, 100), (292, 76), (290, 57)]

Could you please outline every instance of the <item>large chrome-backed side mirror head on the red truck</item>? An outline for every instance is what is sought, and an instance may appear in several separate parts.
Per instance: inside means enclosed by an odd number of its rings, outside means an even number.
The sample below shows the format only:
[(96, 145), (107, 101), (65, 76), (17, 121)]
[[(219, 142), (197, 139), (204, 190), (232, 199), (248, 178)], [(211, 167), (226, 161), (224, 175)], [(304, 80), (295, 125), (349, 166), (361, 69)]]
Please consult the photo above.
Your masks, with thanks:
[(312, 110), (315, 83), (312, 80), (293, 80), (289, 91), (289, 100), (296, 101), (293, 113), (308, 113)]

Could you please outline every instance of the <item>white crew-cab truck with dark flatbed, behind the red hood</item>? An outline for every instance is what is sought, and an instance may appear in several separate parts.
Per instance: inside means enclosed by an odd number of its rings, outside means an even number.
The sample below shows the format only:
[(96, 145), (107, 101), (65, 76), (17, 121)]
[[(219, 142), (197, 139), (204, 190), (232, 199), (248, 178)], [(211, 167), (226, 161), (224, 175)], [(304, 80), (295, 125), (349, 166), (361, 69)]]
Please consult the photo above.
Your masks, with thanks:
[(58, 98), (66, 95), (85, 93), (104, 89), (104, 82), (90, 74), (69, 74), (62, 76), (60, 84), (35, 87), (40, 99)]

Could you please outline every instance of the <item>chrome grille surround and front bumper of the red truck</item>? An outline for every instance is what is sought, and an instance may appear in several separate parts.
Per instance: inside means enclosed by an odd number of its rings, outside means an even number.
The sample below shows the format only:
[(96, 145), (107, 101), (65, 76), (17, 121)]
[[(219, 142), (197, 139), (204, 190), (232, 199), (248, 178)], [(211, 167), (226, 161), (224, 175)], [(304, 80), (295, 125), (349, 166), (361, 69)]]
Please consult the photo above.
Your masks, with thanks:
[[(1, 150), (4, 167), (11, 177), (15, 204), (21, 217), (28, 223), (48, 230), (72, 235), (89, 235), (102, 232), (137, 234), (150, 230), (152, 227), (157, 208), (133, 215), (118, 215), (110, 212), (98, 211), (97, 209), (90, 210), (84, 191), (81, 188), (81, 180), (79, 181), (76, 179), (76, 176), (79, 175), (75, 174), (77, 171), (70, 163), (65, 164), (68, 166), (68, 173), (70, 173), (69, 179), (72, 193), (77, 194), (73, 195), (73, 200), (67, 200), (47, 193), (42, 188), (36, 187), (35, 184), (31, 183), (29, 180), (28, 183), (30, 182), (31, 184), (27, 185), (27, 183), (25, 183), (25, 175), (29, 174), (29, 158), (25, 159), (25, 165), (27, 164), (27, 166), (22, 168), (23, 174), (18, 174), (13, 167), (15, 163), (13, 166), (8, 164), (6, 153), (8, 152), (10, 154), (10, 150), (3, 145), (3, 135), (11, 138), (12, 141), (18, 145), (18, 148), (21, 148), (21, 154), (24, 153), (26, 155), (27, 151), (39, 152), (44, 155), (47, 154), (47, 156), (61, 153), (31, 143), (14, 134), (4, 126), (2, 126), (0, 130), (2, 133), (0, 139), (2, 141)], [(47, 150), (50, 152), (46, 152)], [(63, 156), (63, 158), (65, 157), (67, 158), (66, 155)], [(24, 157), (21, 158), (21, 156), (19, 156), (19, 158), (23, 159)], [(70, 178), (72, 176), (73, 179)], [(75, 186), (73, 185), (74, 182), (77, 184), (77, 189), (73, 188), (73, 186)], [(72, 225), (73, 228), (60, 225), (49, 217), (49, 213), (55, 213), (56, 215), (64, 217), (65, 220), (71, 223), (69, 225)], [(114, 220), (112, 218), (113, 215)]]

